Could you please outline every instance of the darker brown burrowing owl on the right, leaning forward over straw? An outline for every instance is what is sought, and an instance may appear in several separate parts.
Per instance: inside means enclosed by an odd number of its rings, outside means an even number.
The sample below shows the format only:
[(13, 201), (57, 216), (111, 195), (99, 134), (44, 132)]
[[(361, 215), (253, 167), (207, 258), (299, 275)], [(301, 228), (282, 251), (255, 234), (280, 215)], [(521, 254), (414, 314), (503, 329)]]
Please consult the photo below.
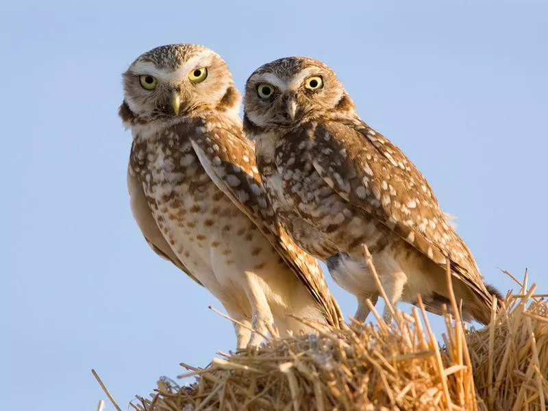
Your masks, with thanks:
[[(334, 280), (356, 295), (356, 318), (378, 292), (364, 266), (369, 247), (392, 303), (440, 313), (453, 271), (464, 314), (487, 323), (490, 292), (425, 177), (356, 114), (336, 75), (311, 58), (265, 64), (247, 80), (244, 129), (255, 140), (262, 182), (277, 217), (297, 244), (327, 262)], [(385, 312), (386, 314), (386, 312)]]

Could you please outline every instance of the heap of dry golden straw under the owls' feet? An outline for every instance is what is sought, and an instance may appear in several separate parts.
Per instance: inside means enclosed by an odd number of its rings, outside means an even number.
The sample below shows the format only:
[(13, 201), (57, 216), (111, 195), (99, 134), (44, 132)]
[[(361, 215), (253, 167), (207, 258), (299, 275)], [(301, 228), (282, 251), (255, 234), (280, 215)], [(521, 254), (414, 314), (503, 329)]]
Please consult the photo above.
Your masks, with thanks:
[[(366, 253), (366, 256), (369, 253)], [(370, 267), (371, 268), (371, 267)], [(449, 274), (448, 274), (449, 275)], [(450, 275), (449, 275), (450, 276)], [(512, 277), (513, 278), (513, 277)], [(451, 282), (449, 282), (451, 284)], [(318, 335), (271, 339), (257, 350), (219, 353), (206, 369), (182, 364), (197, 382), (161, 379), (139, 411), (179, 410), (545, 410), (548, 303), (527, 287), (506, 297), (483, 329), (467, 331), (451, 298), (438, 345), (422, 301), (378, 325), (343, 329), (306, 320)], [(447, 312), (456, 313), (454, 318)]]

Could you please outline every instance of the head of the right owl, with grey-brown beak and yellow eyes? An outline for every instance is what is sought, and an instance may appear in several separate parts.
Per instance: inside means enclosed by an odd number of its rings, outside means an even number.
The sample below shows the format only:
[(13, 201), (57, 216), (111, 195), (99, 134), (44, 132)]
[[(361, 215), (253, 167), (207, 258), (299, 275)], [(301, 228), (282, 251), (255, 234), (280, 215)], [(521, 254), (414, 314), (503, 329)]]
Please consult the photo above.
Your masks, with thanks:
[(335, 73), (307, 57), (282, 58), (254, 71), (247, 79), (244, 105), (248, 128), (291, 128), (354, 110)]

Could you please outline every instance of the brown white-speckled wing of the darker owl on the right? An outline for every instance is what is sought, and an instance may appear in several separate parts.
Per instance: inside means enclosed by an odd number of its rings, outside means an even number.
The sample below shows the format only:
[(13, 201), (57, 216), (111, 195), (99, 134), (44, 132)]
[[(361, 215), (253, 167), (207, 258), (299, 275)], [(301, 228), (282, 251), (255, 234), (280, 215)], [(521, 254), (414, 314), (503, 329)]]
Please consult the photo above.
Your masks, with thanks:
[(490, 301), (475, 261), (440, 210), (429, 184), (390, 141), (364, 123), (314, 129), (314, 168), (346, 201), (375, 216), (425, 256)]

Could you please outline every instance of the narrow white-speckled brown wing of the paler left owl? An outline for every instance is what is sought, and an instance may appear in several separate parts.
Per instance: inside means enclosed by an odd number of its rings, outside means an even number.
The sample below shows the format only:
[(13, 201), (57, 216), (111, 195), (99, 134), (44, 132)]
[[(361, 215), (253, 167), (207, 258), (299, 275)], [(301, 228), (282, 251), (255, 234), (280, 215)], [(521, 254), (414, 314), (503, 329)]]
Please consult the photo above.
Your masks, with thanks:
[(326, 321), (338, 326), (342, 314), (327, 289), (319, 263), (293, 242), (275, 218), (258, 173), (253, 143), (236, 125), (225, 122), (214, 127), (216, 123), (216, 119), (197, 121), (195, 133), (189, 133), (203, 168), (269, 239), (321, 306)]

